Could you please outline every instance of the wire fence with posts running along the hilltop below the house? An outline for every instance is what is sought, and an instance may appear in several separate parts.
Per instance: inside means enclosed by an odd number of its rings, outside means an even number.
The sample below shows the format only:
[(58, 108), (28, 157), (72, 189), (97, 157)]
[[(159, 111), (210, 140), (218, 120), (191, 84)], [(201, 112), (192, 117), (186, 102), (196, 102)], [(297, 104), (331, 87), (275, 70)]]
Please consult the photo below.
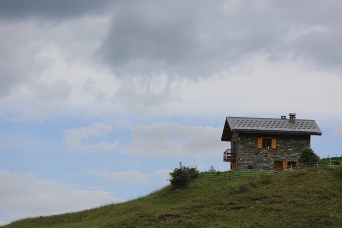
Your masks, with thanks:
[[(319, 161), (319, 162), (310, 162), (310, 163), (301, 163), (299, 166), (287, 166), (281, 168), (281, 170), (274, 171), (274, 170), (236, 170), (232, 171), (229, 170), (228, 172), (202, 172), (199, 173), (200, 177), (205, 179), (206, 181), (220, 181), (220, 180), (225, 180), (225, 181), (233, 181), (233, 180), (239, 180), (239, 179), (248, 179), (248, 178), (260, 178), (264, 177), (267, 175), (272, 175), (272, 176), (278, 176), (283, 174), (284, 172), (292, 171), (295, 169), (305, 169), (308, 167), (337, 167), (337, 166), (342, 166), (342, 161), (341, 160), (325, 160), (325, 161)], [(284, 172), (283, 172), (284, 171)]]

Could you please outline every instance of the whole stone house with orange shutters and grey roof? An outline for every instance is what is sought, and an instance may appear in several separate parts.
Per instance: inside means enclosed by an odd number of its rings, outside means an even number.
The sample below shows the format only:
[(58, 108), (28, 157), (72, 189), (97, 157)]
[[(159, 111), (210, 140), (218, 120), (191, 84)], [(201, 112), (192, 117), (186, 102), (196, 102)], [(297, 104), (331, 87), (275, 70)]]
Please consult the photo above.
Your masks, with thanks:
[(221, 141), (231, 142), (223, 161), (231, 170), (274, 170), (294, 168), (299, 153), (310, 147), (311, 135), (321, 135), (314, 120), (290, 118), (227, 117)]

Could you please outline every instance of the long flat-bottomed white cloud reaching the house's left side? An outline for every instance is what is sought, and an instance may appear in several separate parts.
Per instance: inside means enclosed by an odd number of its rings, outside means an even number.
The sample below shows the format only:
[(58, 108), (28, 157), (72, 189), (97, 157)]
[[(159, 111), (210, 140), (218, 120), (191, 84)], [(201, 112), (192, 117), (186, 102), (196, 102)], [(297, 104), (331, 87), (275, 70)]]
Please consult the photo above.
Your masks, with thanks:
[(228, 146), (220, 140), (222, 130), (222, 127), (190, 127), (170, 122), (138, 124), (132, 129), (134, 141), (120, 150), (135, 156), (222, 156)]

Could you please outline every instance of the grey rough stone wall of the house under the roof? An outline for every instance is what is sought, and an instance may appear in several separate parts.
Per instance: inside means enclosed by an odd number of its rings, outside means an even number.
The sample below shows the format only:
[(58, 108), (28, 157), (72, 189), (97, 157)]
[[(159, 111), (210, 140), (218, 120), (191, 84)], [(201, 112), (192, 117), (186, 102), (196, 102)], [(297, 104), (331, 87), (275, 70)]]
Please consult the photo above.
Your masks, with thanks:
[[(258, 148), (258, 138), (275, 138), (276, 149)], [(234, 143), (235, 142), (235, 143)], [(273, 170), (275, 161), (297, 162), (300, 151), (310, 147), (310, 135), (232, 133), (231, 149), (237, 150), (238, 170)]]

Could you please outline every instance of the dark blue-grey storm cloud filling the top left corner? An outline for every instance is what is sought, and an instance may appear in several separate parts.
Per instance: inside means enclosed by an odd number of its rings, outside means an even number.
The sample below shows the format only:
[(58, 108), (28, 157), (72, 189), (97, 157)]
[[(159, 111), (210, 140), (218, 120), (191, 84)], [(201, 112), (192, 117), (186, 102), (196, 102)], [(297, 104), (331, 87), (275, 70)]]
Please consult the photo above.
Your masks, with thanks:
[(10, 0), (0, 1), (0, 18), (20, 20), (28, 17), (66, 19), (87, 13), (99, 13), (109, 0)]

